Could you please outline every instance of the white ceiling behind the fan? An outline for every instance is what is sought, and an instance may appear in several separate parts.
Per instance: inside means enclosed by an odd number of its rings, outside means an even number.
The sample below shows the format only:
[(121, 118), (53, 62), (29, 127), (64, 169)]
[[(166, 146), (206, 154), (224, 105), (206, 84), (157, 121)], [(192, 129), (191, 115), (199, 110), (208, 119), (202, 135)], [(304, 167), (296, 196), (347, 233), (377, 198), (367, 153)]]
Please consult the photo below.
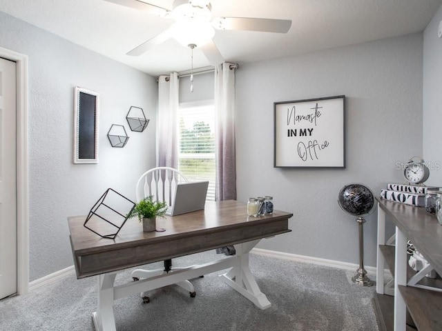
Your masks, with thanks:
[[(171, 8), (173, 0), (144, 0)], [(226, 61), (246, 63), (421, 32), (442, 0), (212, 0), (214, 16), (291, 19), (287, 34), (217, 30)], [(126, 52), (170, 19), (104, 0), (0, 0), (0, 10), (106, 57), (157, 76), (189, 70), (190, 50), (171, 39), (140, 57)], [(436, 34), (436, 31), (434, 32)], [(194, 50), (194, 68), (209, 66)]]

